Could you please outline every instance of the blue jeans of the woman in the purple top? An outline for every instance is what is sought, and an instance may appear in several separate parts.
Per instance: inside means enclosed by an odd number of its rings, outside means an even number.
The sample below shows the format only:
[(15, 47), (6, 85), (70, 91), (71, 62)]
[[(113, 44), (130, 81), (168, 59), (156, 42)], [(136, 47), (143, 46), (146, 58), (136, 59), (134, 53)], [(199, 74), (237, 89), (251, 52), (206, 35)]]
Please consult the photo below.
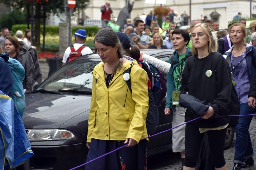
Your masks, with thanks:
[[(254, 109), (248, 103), (240, 104), (240, 115), (254, 114)], [(241, 116), (236, 126), (236, 152), (234, 163), (243, 164), (245, 158), (252, 157), (253, 147), (249, 134), (249, 127), (253, 116)]]

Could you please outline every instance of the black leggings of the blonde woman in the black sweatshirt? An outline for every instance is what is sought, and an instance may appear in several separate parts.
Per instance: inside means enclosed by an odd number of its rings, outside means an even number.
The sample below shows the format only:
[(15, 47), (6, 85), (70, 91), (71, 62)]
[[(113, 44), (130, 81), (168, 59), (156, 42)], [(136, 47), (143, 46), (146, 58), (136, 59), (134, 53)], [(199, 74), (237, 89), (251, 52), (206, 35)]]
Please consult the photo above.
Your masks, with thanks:
[[(226, 132), (227, 128), (206, 131), (212, 162), (216, 168), (221, 168), (226, 164), (223, 152)], [(198, 127), (191, 125), (190, 123), (186, 124), (184, 166), (190, 168), (196, 167), (203, 136), (204, 133), (200, 133)]]

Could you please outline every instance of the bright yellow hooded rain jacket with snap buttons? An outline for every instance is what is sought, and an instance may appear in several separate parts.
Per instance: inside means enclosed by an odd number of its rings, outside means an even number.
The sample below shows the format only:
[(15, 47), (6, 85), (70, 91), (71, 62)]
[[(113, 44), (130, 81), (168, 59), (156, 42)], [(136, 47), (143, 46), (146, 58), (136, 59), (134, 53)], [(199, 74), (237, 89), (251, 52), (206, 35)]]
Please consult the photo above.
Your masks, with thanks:
[[(131, 67), (132, 62), (131, 93), (123, 75), (124, 71)], [(87, 142), (91, 142), (91, 138), (100, 140), (132, 138), (138, 143), (140, 139), (147, 137), (145, 123), (149, 107), (147, 73), (136, 61), (126, 61), (123, 68), (116, 71), (107, 88), (103, 66), (103, 62), (99, 63), (91, 73), (93, 88)]]

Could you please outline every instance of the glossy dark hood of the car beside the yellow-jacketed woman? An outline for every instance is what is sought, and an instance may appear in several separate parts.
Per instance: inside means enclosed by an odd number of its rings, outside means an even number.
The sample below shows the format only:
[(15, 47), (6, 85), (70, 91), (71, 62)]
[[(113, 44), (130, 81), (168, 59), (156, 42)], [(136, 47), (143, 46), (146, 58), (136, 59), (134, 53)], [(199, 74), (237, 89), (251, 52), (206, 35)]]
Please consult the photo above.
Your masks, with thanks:
[[(23, 123), (26, 129), (58, 129), (90, 109), (91, 95), (32, 93), (26, 95)], [(84, 117), (84, 116), (83, 116)], [(84, 119), (88, 120), (88, 115)]]

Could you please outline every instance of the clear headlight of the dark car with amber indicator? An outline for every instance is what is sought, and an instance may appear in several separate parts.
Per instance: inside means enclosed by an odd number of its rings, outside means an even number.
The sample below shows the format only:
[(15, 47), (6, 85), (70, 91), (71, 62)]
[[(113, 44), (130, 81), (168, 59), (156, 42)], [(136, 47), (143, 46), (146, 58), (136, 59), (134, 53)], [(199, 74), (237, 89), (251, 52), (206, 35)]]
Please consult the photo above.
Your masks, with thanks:
[(72, 132), (60, 129), (30, 129), (27, 136), (30, 141), (76, 139)]

